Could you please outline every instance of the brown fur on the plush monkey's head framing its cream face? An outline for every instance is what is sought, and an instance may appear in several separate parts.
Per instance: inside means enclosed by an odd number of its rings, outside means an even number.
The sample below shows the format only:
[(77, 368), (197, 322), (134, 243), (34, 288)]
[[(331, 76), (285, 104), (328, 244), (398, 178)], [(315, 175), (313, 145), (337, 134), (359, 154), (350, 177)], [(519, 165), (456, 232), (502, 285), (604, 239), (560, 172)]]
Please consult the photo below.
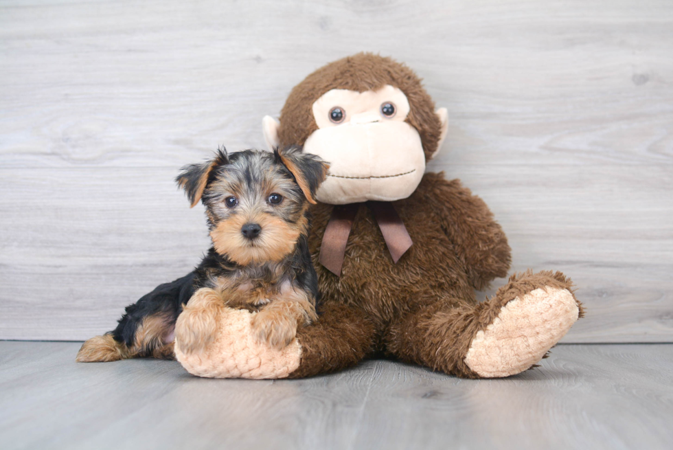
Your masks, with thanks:
[(317, 69), (295, 86), (280, 113), (278, 137), (284, 144), (304, 145), (318, 129), (312, 104), (331, 89), (376, 91), (391, 85), (407, 95), (411, 111), (407, 121), (418, 130), (426, 158), (435, 153), (440, 142), (441, 124), (435, 115), (435, 102), (423, 89), (421, 80), (409, 67), (391, 58), (358, 53)]

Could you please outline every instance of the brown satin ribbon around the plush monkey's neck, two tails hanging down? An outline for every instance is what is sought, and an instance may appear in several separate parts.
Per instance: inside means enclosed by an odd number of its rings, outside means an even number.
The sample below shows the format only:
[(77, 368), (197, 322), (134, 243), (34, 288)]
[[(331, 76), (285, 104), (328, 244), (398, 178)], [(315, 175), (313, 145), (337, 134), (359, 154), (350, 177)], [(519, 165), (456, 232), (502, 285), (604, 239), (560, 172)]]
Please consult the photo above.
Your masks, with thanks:
[[(404, 223), (392, 203), (368, 201), (366, 204), (374, 213), (374, 218), (376, 218), (376, 223), (378, 223), (381, 234), (383, 234), (383, 239), (388, 246), (393, 262), (397, 263), (413, 244), (411, 236), (407, 232), (407, 227), (404, 227)], [(330, 221), (325, 228), (323, 241), (320, 245), (319, 260), (321, 265), (336, 276), (341, 275), (346, 243), (361, 205), (362, 203), (350, 203), (349, 205), (334, 206), (332, 217), (330, 217)]]

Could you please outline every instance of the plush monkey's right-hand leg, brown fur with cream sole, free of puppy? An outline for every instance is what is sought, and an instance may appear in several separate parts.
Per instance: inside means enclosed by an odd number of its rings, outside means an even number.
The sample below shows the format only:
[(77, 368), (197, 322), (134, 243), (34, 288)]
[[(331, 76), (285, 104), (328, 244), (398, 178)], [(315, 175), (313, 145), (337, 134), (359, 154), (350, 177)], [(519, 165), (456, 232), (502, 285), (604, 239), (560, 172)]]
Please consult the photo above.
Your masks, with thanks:
[(476, 306), (426, 303), (391, 326), (387, 350), (464, 378), (518, 374), (543, 359), (582, 317), (571, 286), (560, 272), (527, 272), (512, 275)]

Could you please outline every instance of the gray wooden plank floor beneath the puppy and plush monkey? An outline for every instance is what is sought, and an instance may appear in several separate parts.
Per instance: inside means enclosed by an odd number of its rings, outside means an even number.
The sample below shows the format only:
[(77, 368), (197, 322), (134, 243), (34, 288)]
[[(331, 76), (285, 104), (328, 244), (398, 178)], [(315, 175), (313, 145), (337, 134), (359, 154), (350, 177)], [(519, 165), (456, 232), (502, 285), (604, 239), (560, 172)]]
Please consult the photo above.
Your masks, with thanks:
[(673, 344), (562, 345), (481, 381), (380, 360), (199, 379), (174, 361), (78, 364), (79, 346), (0, 341), (3, 449), (673, 448)]

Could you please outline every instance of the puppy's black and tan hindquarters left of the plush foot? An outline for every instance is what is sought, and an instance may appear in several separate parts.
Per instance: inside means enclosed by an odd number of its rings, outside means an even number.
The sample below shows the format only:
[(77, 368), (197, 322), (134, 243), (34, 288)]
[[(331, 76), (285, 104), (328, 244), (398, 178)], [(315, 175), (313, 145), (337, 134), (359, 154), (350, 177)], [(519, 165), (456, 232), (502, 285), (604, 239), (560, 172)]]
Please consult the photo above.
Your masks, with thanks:
[(84, 342), (80, 363), (117, 361), (135, 357), (174, 359), (173, 329), (176, 317), (192, 295), (194, 273), (160, 284), (126, 311), (115, 330)]

